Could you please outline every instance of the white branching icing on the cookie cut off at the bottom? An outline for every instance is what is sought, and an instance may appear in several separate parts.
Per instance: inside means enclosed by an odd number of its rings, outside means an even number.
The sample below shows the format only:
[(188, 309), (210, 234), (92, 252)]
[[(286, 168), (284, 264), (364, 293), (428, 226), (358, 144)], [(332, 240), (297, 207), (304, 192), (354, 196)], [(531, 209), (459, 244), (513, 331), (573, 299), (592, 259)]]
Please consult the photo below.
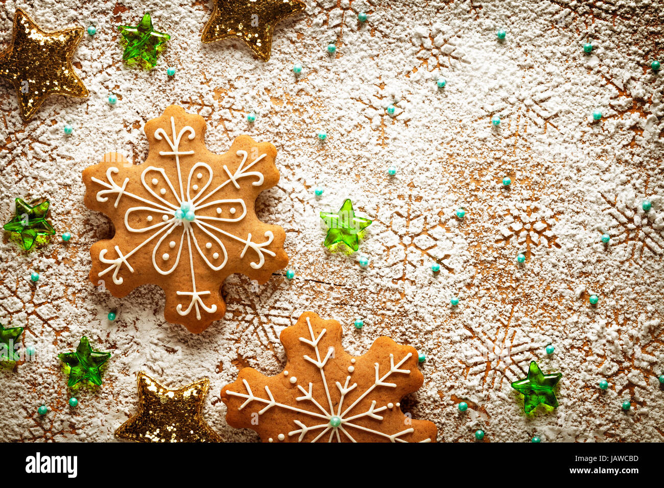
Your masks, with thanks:
[[(303, 422), (300, 422), (299, 420), (295, 419), (293, 420), (293, 423), (298, 427), (296, 430), (292, 430), (291, 432), (288, 432), (288, 436), (295, 436), (299, 434), (297, 441), (301, 442), (303, 438), (307, 435), (308, 432), (315, 432), (315, 431), (320, 431), (317, 436), (311, 441), (311, 442), (316, 442), (319, 440), (321, 437), (325, 436), (327, 432), (330, 432), (328, 442), (332, 442), (336, 438), (337, 441), (341, 442), (341, 436), (344, 435), (346, 436), (351, 442), (357, 442), (355, 438), (353, 438), (351, 432), (353, 429), (357, 430), (362, 430), (364, 432), (371, 432), (372, 434), (375, 434), (376, 436), (384, 437), (389, 439), (391, 442), (408, 442), (406, 440), (403, 440), (401, 436), (404, 436), (405, 434), (410, 434), (411, 432), (414, 432), (414, 429), (407, 428), (405, 430), (402, 430), (401, 432), (396, 432), (395, 434), (385, 434), (384, 432), (379, 432), (377, 430), (367, 428), (365, 426), (361, 426), (357, 423), (354, 423), (353, 420), (357, 420), (359, 418), (373, 418), (375, 420), (382, 420), (383, 417), (378, 415), (380, 412), (384, 412), (385, 410), (388, 410), (388, 408), (392, 408), (394, 404), (388, 403), (387, 405), (384, 406), (378, 406), (376, 407), (376, 400), (373, 400), (371, 402), (371, 406), (369, 407), (369, 410), (366, 412), (359, 412), (359, 413), (354, 413), (351, 414), (353, 408), (359, 404), (364, 398), (366, 398), (373, 390), (378, 387), (386, 387), (386, 388), (396, 388), (395, 383), (390, 383), (386, 382), (386, 379), (389, 378), (392, 374), (410, 374), (409, 369), (400, 369), (400, 366), (403, 365), (410, 357), (412, 357), (412, 353), (406, 354), (398, 363), (394, 363), (394, 355), (390, 354), (390, 369), (388, 372), (380, 375), (379, 368), (380, 365), (378, 363), (374, 363), (374, 366), (376, 368), (376, 376), (374, 383), (363, 392), (360, 396), (358, 396), (355, 401), (350, 404), (349, 406), (345, 407), (345, 410), (343, 410), (344, 405), (343, 405), (343, 400), (345, 396), (355, 390), (357, 388), (357, 383), (350, 384), (351, 382), (351, 376), (346, 376), (346, 381), (345, 384), (342, 386), (340, 382), (335, 382), (335, 385), (339, 389), (339, 393), (341, 394), (341, 398), (339, 399), (339, 404), (337, 408), (335, 409), (332, 398), (329, 393), (328, 389), (328, 384), (327, 380), (325, 378), (325, 366), (327, 365), (327, 362), (329, 361), (330, 357), (334, 353), (334, 349), (330, 348), (327, 350), (327, 354), (323, 359), (321, 359), (321, 352), (319, 351), (318, 348), (318, 343), (321, 341), (325, 333), (327, 332), (326, 329), (323, 329), (318, 337), (315, 337), (313, 333), (313, 328), (311, 327), (311, 321), (309, 320), (309, 317), (307, 317), (307, 325), (309, 325), (309, 335), (311, 336), (310, 339), (305, 339), (304, 337), (300, 337), (299, 340), (302, 343), (305, 343), (309, 347), (313, 349), (315, 352), (315, 359), (309, 357), (308, 355), (303, 355), (303, 359), (305, 361), (308, 361), (312, 365), (316, 366), (319, 370), (319, 374), (321, 375), (321, 380), (323, 382), (323, 387), (325, 388), (325, 396), (327, 397), (327, 405), (323, 406), (321, 405), (316, 398), (318, 396), (313, 395), (313, 384), (309, 383), (307, 388), (303, 388), (300, 384), (297, 385), (297, 389), (302, 393), (302, 396), (298, 396), (295, 398), (297, 402), (307, 402), (307, 404), (302, 404), (303, 408), (299, 408), (298, 406), (291, 406), (287, 404), (283, 404), (280, 402), (277, 402), (274, 399), (274, 396), (272, 395), (272, 392), (270, 391), (270, 388), (268, 386), (265, 386), (265, 394), (267, 398), (261, 398), (260, 396), (256, 396), (254, 392), (252, 392), (251, 387), (249, 386), (249, 383), (247, 380), (243, 379), (242, 384), (244, 384), (244, 388), (246, 388), (246, 393), (239, 393), (239, 392), (233, 392), (230, 390), (226, 390), (226, 394), (232, 395), (232, 396), (238, 396), (240, 398), (244, 398), (245, 401), (240, 405), (238, 410), (242, 410), (244, 407), (246, 407), (248, 404), (251, 402), (260, 402), (264, 404), (265, 406), (258, 411), (258, 415), (261, 416), (270, 408), (283, 408), (284, 410), (290, 410), (291, 412), (297, 412), (298, 414), (304, 414), (307, 416), (310, 416), (312, 420), (317, 423), (311, 426), (307, 426)], [(351, 361), (353, 361), (351, 359)], [(355, 361), (353, 361), (355, 362)], [(351, 366), (352, 367), (352, 366)], [(288, 371), (284, 371), (284, 376), (288, 376)], [(290, 380), (293, 382), (294, 376), (291, 376)], [(297, 378), (295, 378), (295, 382), (297, 382)], [(305, 406), (309, 406), (311, 410), (304, 408)], [(397, 404), (398, 406), (398, 404)], [(341, 418), (341, 424), (338, 427), (333, 427), (330, 425), (330, 419), (333, 416), (337, 416)], [(351, 432), (349, 432), (351, 431)], [(282, 434), (280, 434), (281, 436)], [(423, 440), (422, 442), (431, 442), (431, 439), (426, 439)]]

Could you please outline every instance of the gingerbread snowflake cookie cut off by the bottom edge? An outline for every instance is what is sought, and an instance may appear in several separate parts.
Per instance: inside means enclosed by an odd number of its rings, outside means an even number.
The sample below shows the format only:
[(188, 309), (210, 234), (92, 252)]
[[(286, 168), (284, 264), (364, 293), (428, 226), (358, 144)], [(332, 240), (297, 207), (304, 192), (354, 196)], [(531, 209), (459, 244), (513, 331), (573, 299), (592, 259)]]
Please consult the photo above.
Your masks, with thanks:
[(400, 400), (424, 382), (417, 351), (379, 337), (359, 357), (341, 346), (341, 325), (305, 312), (280, 341), (283, 374), (243, 368), (225, 386), (226, 422), (263, 442), (435, 442), (436, 425), (412, 420)]

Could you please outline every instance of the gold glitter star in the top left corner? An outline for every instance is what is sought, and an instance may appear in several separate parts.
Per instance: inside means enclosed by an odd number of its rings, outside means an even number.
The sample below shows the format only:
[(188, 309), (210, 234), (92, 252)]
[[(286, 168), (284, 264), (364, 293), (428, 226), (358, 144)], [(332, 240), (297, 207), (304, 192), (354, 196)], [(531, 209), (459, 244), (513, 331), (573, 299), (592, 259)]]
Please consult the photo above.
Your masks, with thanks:
[(16, 87), (24, 121), (49, 95), (88, 96), (72, 67), (72, 56), (82, 37), (82, 27), (42, 31), (24, 11), (16, 9), (11, 46), (0, 53), (0, 76)]

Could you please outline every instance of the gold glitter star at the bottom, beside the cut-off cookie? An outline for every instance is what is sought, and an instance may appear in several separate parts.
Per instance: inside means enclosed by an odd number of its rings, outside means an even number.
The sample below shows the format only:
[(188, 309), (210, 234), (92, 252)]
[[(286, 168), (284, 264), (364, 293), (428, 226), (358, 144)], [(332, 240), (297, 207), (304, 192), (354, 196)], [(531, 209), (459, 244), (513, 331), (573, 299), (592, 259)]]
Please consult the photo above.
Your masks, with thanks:
[(138, 411), (116, 430), (134, 442), (221, 442), (201, 417), (210, 381), (169, 390), (144, 372), (138, 374)]

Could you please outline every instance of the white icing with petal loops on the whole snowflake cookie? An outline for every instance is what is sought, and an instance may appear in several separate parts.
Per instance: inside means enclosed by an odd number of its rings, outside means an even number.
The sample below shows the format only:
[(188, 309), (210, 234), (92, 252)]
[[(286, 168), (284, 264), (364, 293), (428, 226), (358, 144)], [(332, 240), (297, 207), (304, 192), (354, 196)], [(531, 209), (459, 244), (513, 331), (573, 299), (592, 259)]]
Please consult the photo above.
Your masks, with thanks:
[[(180, 149), (181, 140), (185, 135), (187, 135), (187, 139), (189, 139), (190, 141), (196, 137), (195, 130), (193, 129), (193, 127), (189, 125), (182, 127), (180, 131), (177, 132), (176, 135), (175, 118), (173, 117), (171, 117), (170, 137), (169, 135), (167, 135), (166, 131), (161, 127), (155, 130), (154, 133), (155, 139), (157, 139), (158, 141), (165, 140), (171, 148), (171, 151), (159, 151), (159, 155), (165, 157), (175, 157), (175, 166), (177, 169), (177, 176), (178, 176), (177, 189), (173, 185), (173, 183), (171, 183), (163, 168), (158, 168), (153, 166), (146, 167), (145, 170), (143, 170), (143, 172), (141, 173), (141, 184), (143, 185), (143, 188), (149, 193), (149, 195), (153, 197), (153, 200), (147, 200), (144, 199), (143, 197), (139, 197), (138, 195), (126, 191), (127, 183), (129, 183), (129, 178), (124, 179), (122, 186), (118, 185), (113, 179), (113, 176), (120, 172), (120, 170), (117, 167), (110, 167), (106, 170), (107, 181), (102, 181), (94, 177), (92, 178), (92, 181), (104, 187), (104, 189), (98, 191), (96, 195), (96, 199), (100, 203), (108, 201), (108, 195), (117, 195), (116, 201), (114, 203), (115, 208), (118, 208), (120, 199), (122, 199), (122, 197), (125, 195), (131, 199), (143, 203), (143, 206), (133, 206), (131, 208), (128, 208), (125, 212), (124, 224), (125, 228), (127, 228), (129, 232), (143, 233), (155, 230), (153, 234), (151, 234), (141, 244), (138, 244), (131, 251), (127, 252), (127, 254), (123, 254), (122, 251), (120, 250), (120, 247), (115, 246), (114, 250), (116, 252), (116, 255), (118, 256), (117, 258), (114, 259), (107, 258), (106, 256), (109, 250), (102, 249), (99, 254), (99, 259), (102, 263), (109, 264), (110, 266), (102, 270), (98, 274), (98, 276), (104, 276), (108, 272), (113, 271), (112, 275), (113, 282), (117, 285), (122, 284), (123, 278), (122, 276), (118, 276), (120, 270), (122, 269), (122, 266), (123, 265), (126, 266), (129, 272), (133, 273), (133, 268), (131, 267), (128, 261), (129, 258), (131, 258), (133, 254), (141, 250), (144, 246), (155, 240), (155, 238), (156, 238), (156, 244), (154, 245), (152, 251), (152, 264), (155, 270), (159, 272), (159, 274), (167, 276), (171, 274), (180, 264), (180, 258), (183, 254), (183, 247), (185, 244), (185, 236), (186, 236), (187, 237), (186, 253), (189, 255), (189, 270), (191, 272), (191, 291), (176, 291), (176, 293), (177, 295), (183, 297), (189, 297), (190, 301), (186, 309), (182, 303), (179, 303), (176, 309), (180, 315), (189, 315), (189, 313), (191, 313), (193, 309), (196, 309), (196, 317), (197, 319), (200, 320), (201, 307), (208, 313), (214, 313), (217, 307), (214, 303), (208, 306), (203, 301), (202, 297), (210, 295), (211, 293), (210, 291), (200, 291), (196, 287), (196, 277), (194, 272), (194, 258), (193, 258), (194, 248), (196, 248), (197, 252), (199, 252), (201, 258), (203, 258), (207, 266), (214, 271), (221, 270), (222, 268), (224, 268), (224, 266), (226, 266), (226, 262), (228, 262), (228, 253), (226, 252), (226, 246), (224, 246), (222, 240), (220, 240), (220, 237), (230, 238), (232, 240), (236, 240), (244, 244), (244, 248), (242, 249), (242, 252), (240, 253), (239, 256), (240, 258), (244, 258), (247, 250), (249, 249), (252, 250), (252, 252), (256, 253), (258, 259), (250, 262), (250, 266), (252, 266), (252, 268), (254, 269), (262, 268), (262, 266), (265, 263), (265, 254), (268, 254), (269, 256), (273, 257), (276, 256), (276, 254), (272, 250), (269, 250), (267, 248), (268, 246), (270, 246), (270, 244), (272, 244), (272, 241), (274, 240), (274, 235), (270, 231), (264, 233), (263, 237), (265, 238), (265, 240), (263, 242), (254, 242), (254, 240), (252, 240), (251, 234), (248, 234), (246, 238), (243, 238), (241, 236), (236, 236), (234, 234), (231, 234), (230, 232), (226, 232), (223, 228), (220, 228), (219, 225), (223, 224), (224, 222), (240, 222), (242, 219), (244, 219), (244, 217), (247, 214), (247, 208), (246, 204), (244, 203), (244, 201), (242, 201), (242, 199), (214, 200), (210, 198), (212, 197), (212, 195), (215, 195), (218, 191), (220, 191), (222, 188), (228, 185), (228, 183), (234, 185), (236, 189), (240, 189), (240, 180), (243, 178), (254, 177), (256, 181), (252, 182), (252, 186), (256, 187), (262, 185), (264, 182), (264, 175), (260, 173), (260, 171), (249, 171), (249, 170), (252, 169), (252, 167), (254, 167), (256, 163), (258, 163), (264, 157), (266, 157), (266, 154), (265, 153), (261, 154), (256, 159), (254, 159), (254, 161), (247, 163), (248, 153), (246, 151), (237, 151), (236, 155), (242, 158), (242, 161), (240, 161), (240, 165), (238, 165), (238, 168), (234, 172), (231, 172), (228, 169), (228, 166), (224, 165), (222, 169), (228, 178), (223, 183), (220, 183), (218, 187), (206, 193), (208, 187), (212, 183), (213, 171), (212, 167), (210, 167), (210, 165), (204, 163), (203, 161), (199, 161), (195, 165), (193, 165), (187, 177), (186, 187), (185, 185), (183, 185), (183, 174), (180, 167), (180, 156), (194, 154), (193, 150), (183, 151)], [(149, 185), (147, 185), (146, 177), (149, 173), (159, 173), (159, 175), (161, 175), (161, 177), (159, 178), (157, 177), (150, 178), (152, 185), (157, 185), (159, 181), (162, 181), (163, 182), (162, 185), (165, 185), (164, 187), (159, 189), (159, 193), (155, 192)], [(207, 175), (207, 181), (204, 180), (206, 175)], [(199, 187), (199, 184), (196, 185), (191, 184), (191, 181), (194, 176), (201, 181), (202, 185), (201, 187)], [(203, 183), (204, 181), (205, 183)], [(185, 195), (185, 189), (187, 195)], [(190, 189), (195, 192), (195, 195), (191, 195)], [(168, 201), (167, 199), (164, 198), (167, 191), (169, 190), (171, 191), (172, 196), (174, 197), (173, 199), (171, 199), (171, 201)], [(173, 201), (176, 201), (177, 203), (173, 203)], [(189, 222), (187, 220), (179, 220), (175, 218), (174, 216), (175, 211), (179, 210), (183, 202), (191, 203), (191, 210), (196, 215), (194, 221)], [(222, 213), (222, 207), (224, 205), (229, 205), (229, 206), (232, 205), (229, 208), (230, 214), (233, 215), (232, 218), (222, 218), (220, 216), (207, 216), (205, 214), (205, 210), (208, 207), (214, 207), (216, 208), (216, 214), (220, 215)], [(241, 208), (242, 211), (238, 216), (236, 216), (235, 215), (236, 209), (238, 207)], [(146, 211), (162, 214), (161, 216), (162, 221), (157, 224), (150, 224), (147, 226), (143, 226), (143, 223), (141, 222), (145, 222), (145, 220), (139, 219), (138, 223), (133, 224), (133, 225), (139, 225), (139, 227), (137, 228), (134, 228), (132, 225), (129, 224), (129, 219), (131, 218), (133, 212), (146, 212)], [(151, 215), (148, 216), (147, 222), (152, 222), (152, 220), (153, 217)], [(212, 258), (214, 260), (218, 260), (218, 258), (222, 256), (223, 259), (220, 264), (216, 265), (212, 264), (210, 260), (208, 260), (208, 257), (206, 256), (205, 252), (199, 246), (199, 242), (197, 240), (197, 234), (200, 234), (201, 232), (206, 234), (207, 238), (211, 240), (211, 242), (208, 240), (208, 244), (205, 246), (206, 249), (212, 248), (214, 244), (218, 246), (218, 249), (215, 249), (214, 252), (212, 253)], [(173, 234), (174, 237), (180, 236), (179, 247), (177, 250), (177, 254), (175, 254), (175, 264), (173, 264), (171, 268), (164, 270), (163, 268), (161, 268), (159, 264), (157, 264), (156, 260), (157, 250), (159, 250), (159, 246), (161, 246), (164, 240), (169, 236), (171, 236), (171, 234)], [(169, 247), (171, 249), (175, 249), (175, 246), (177, 246), (176, 241), (177, 238), (169, 242)], [(192, 246), (192, 241), (193, 241), (193, 246)], [(163, 260), (169, 259), (165, 258), (165, 256), (169, 256), (169, 254), (165, 253), (162, 254)]]

